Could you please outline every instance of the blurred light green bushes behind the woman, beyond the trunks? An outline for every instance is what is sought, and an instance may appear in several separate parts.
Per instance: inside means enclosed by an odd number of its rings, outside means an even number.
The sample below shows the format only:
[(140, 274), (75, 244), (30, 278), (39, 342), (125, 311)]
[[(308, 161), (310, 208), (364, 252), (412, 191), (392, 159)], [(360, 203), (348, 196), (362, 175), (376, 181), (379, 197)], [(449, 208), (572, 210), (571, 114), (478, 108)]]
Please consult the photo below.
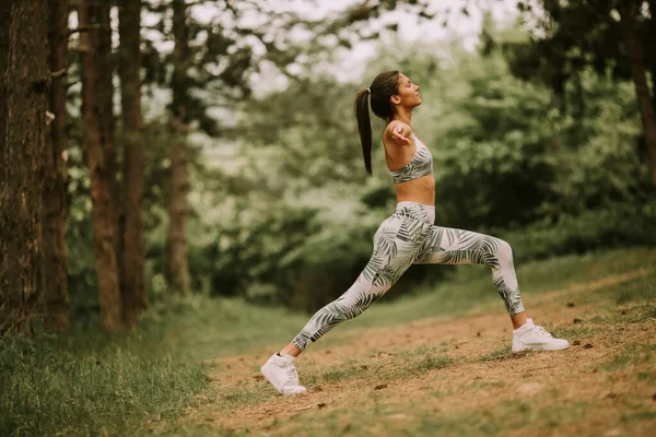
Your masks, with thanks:
[[(515, 28), (487, 32), (496, 42), (527, 37)], [(504, 237), (522, 260), (653, 241), (654, 191), (630, 83), (582, 71), (577, 93), (586, 104), (574, 114), (541, 83), (514, 78), (502, 45), (481, 56), (458, 43), (397, 42), (379, 47), (362, 83), (302, 75), (286, 90), (239, 103), (236, 125), (220, 143), (229, 157), (212, 161), (192, 149), (195, 290), (312, 311), (351, 285), (395, 205), (379, 146), (383, 123), (374, 121), (374, 176), (367, 178), (352, 104), (375, 72), (389, 68), (407, 73), (424, 96), (413, 126), (435, 158), (440, 225)], [(156, 302), (166, 295), (172, 139), (159, 120), (144, 133), (147, 273)], [(80, 155), (71, 150), (69, 247), (71, 293), (86, 302), (84, 314), (95, 297)], [(391, 295), (447, 271), (413, 267)]]

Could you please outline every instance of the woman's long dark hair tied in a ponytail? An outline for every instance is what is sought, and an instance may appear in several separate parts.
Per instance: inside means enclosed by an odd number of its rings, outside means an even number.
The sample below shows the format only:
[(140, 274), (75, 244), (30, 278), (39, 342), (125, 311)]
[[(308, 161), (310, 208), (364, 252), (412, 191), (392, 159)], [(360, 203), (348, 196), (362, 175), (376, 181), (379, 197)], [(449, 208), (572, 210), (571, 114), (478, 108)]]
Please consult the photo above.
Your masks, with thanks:
[[(368, 115), (368, 99), (372, 101), (372, 110), (385, 121), (390, 121), (394, 116), (394, 106), (389, 101), (398, 94), (400, 72), (397, 70), (385, 71), (376, 76), (367, 90), (362, 90), (355, 96), (355, 118), (360, 131), (360, 143), (366, 173), (372, 174), (372, 122)], [(370, 95), (371, 94), (371, 95)]]

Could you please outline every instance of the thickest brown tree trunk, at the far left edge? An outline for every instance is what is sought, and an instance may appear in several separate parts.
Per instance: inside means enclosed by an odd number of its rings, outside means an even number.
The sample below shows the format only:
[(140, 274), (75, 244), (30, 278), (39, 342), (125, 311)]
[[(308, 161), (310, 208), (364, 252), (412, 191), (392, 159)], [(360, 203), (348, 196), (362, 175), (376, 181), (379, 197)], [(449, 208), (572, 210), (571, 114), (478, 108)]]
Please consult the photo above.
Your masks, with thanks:
[(35, 318), (48, 69), (46, 0), (0, 2), (0, 331)]

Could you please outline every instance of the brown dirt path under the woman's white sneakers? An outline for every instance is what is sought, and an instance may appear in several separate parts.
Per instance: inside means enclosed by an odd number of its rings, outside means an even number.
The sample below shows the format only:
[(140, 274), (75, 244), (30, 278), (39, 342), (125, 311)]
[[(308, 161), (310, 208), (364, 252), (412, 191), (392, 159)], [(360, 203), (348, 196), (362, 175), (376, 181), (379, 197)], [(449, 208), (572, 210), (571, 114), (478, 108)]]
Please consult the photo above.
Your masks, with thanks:
[(647, 273), (528, 299), (537, 323), (567, 333), (573, 345), (563, 352), (511, 354), (512, 327), (496, 308), (356, 336), (333, 331), (343, 344), (309, 349), (298, 361), (304, 395), (277, 395), (262, 381), (269, 350), (211, 361), (214, 391), (177, 426), (255, 435), (656, 435), (653, 303), (617, 308), (588, 298)]

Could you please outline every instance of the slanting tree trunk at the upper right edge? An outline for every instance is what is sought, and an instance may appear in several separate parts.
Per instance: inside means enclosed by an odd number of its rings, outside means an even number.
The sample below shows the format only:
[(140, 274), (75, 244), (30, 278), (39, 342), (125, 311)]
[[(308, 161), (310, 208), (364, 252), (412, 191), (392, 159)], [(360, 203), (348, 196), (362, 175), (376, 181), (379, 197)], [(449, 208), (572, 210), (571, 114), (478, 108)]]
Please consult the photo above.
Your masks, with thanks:
[(652, 104), (649, 85), (645, 74), (644, 52), (641, 40), (635, 32), (635, 7), (630, 0), (621, 1), (618, 11), (620, 12), (620, 23), (624, 38), (624, 47), (629, 62), (631, 63), (631, 73), (635, 94), (643, 123), (645, 144), (649, 154), (652, 166), (652, 181), (656, 185), (656, 114)]

